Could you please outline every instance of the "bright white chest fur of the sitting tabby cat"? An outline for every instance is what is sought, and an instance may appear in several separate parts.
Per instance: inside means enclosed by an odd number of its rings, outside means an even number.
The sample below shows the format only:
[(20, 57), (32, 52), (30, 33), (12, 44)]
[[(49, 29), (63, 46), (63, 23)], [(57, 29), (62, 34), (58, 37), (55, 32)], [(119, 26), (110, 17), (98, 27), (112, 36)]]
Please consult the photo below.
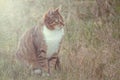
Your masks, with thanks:
[(60, 42), (64, 35), (64, 29), (49, 30), (44, 26), (43, 35), (47, 45), (47, 58), (50, 58), (59, 49)]

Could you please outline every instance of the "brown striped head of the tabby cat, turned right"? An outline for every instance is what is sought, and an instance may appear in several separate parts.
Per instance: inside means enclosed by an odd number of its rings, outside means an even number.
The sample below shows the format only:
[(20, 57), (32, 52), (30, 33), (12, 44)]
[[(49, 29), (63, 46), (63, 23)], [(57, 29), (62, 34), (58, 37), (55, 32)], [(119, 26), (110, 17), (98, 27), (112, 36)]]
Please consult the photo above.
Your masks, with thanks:
[(61, 29), (64, 26), (63, 17), (59, 12), (59, 8), (55, 10), (49, 10), (44, 16), (44, 24), (48, 29)]

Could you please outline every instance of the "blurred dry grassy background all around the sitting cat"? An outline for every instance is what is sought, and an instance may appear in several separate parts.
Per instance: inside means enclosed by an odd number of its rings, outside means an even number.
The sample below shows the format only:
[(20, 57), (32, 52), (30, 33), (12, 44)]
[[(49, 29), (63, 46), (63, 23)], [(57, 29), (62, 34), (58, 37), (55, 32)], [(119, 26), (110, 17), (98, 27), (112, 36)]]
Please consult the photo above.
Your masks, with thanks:
[[(21, 35), (62, 6), (61, 71), (30, 75), (13, 56)], [(0, 80), (120, 80), (120, 0), (0, 0)]]

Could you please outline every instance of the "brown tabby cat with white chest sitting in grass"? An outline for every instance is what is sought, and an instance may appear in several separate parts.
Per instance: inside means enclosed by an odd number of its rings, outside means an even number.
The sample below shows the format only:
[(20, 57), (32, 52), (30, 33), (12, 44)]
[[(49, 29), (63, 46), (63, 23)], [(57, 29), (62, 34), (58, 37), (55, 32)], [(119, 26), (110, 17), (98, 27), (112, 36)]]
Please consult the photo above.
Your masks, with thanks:
[(36, 74), (50, 75), (60, 68), (59, 51), (64, 36), (64, 21), (59, 8), (49, 10), (39, 25), (23, 34), (16, 56)]

